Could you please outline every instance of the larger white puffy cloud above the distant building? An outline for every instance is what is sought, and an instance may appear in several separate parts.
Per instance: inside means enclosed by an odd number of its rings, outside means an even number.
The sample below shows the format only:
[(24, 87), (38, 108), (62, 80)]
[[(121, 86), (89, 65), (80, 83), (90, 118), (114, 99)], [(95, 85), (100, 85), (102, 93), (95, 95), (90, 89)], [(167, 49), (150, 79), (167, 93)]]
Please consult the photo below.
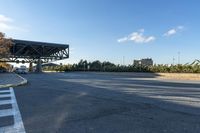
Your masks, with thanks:
[(133, 41), (134, 43), (148, 43), (154, 41), (156, 38), (154, 36), (144, 36), (144, 29), (140, 29), (137, 32), (133, 32), (132, 34), (120, 38), (117, 41), (119, 43)]

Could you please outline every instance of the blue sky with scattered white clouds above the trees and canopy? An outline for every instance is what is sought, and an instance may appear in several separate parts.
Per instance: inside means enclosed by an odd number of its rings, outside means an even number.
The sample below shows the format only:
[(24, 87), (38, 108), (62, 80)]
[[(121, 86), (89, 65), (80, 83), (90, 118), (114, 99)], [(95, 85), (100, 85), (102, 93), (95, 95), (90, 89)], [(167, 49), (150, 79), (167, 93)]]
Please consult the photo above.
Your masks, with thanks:
[[(200, 59), (199, 0), (0, 0), (7, 37), (70, 45), (70, 58), (132, 64)], [(124, 61), (123, 61), (124, 60)]]

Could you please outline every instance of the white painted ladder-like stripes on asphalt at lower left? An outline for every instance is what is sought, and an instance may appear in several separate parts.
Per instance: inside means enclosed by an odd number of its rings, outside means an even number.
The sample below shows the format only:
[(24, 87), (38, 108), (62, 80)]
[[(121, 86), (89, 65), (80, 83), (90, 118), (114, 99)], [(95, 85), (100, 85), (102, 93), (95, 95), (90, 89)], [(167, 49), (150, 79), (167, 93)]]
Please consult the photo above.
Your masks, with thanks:
[(9, 88), (9, 92), (11, 93), (10, 94), (11, 100), (0, 101), (0, 105), (5, 104), (5, 103), (12, 104), (12, 109), (0, 110), (0, 117), (13, 115), (14, 125), (1, 127), (0, 133), (26, 133), (24, 124), (22, 121), (22, 117), (21, 117), (21, 114), (20, 114), (20, 111), (19, 111), (19, 108), (17, 105), (14, 90), (12, 87)]

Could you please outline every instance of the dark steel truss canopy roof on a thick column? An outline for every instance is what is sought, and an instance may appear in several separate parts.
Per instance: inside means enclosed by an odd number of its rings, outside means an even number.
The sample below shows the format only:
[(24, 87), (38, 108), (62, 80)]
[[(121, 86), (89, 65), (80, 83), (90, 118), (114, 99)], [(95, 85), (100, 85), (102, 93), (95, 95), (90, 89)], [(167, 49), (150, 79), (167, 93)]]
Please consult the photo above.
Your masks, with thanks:
[(36, 71), (41, 72), (41, 64), (69, 58), (69, 45), (27, 40), (12, 40), (7, 62), (36, 63)]

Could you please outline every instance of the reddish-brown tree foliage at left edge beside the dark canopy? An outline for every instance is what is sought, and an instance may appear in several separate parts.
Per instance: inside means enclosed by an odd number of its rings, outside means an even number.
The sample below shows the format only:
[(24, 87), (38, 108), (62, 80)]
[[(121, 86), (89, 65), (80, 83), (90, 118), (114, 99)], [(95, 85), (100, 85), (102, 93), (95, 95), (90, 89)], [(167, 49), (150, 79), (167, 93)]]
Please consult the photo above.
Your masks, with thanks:
[(0, 32), (0, 57), (1, 60), (10, 54), (10, 47), (12, 46), (12, 39), (5, 38), (5, 34)]

